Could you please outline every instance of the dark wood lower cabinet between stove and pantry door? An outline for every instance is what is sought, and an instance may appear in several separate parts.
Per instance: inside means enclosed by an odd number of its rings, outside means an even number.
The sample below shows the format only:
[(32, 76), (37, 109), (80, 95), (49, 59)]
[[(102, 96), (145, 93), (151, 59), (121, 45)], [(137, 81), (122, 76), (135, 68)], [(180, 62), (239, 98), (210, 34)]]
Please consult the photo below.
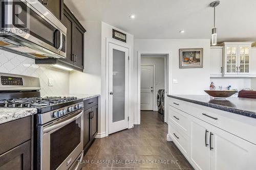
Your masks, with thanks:
[(98, 133), (98, 97), (84, 101), (83, 150), (86, 151)]

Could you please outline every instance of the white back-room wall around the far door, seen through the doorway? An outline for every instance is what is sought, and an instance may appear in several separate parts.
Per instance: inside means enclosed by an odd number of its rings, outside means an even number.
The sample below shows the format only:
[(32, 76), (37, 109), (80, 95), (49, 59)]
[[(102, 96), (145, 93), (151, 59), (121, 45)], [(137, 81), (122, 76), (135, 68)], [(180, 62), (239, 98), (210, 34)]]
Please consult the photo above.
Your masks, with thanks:
[(155, 98), (154, 103), (154, 110), (157, 110), (157, 104), (156, 104), (156, 97), (157, 97), (157, 91), (159, 89), (164, 89), (164, 57), (141, 57), (141, 65), (155, 65), (156, 66), (156, 90), (154, 91)]

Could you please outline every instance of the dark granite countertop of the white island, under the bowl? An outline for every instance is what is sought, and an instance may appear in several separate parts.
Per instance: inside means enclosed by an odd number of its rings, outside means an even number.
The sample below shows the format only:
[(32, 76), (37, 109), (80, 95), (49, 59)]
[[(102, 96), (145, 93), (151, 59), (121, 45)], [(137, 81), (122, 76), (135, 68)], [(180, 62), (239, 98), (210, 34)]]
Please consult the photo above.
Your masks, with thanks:
[(256, 118), (256, 99), (234, 98), (214, 99), (209, 95), (167, 95), (170, 98), (195, 103), (231, 113)]

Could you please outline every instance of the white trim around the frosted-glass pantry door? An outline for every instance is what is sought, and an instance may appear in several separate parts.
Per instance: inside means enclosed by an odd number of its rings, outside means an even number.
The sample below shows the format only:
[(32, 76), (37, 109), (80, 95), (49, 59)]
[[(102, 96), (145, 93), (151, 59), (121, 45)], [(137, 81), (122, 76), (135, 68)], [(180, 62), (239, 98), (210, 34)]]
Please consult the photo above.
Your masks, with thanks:
[(125, 48), (129, 49), (129, 76), (128, 76), (128, 84), (129, 84), (129, 92), (128, 92), (128, 116), (129, 116), (129, 120), (128, 120), (128, 129), (133, 128), (133, 120), (131, 117), (131, 63), (133, 62), (132, 60), (132, 47), (130, 45), (127, 45), (124, 42), (118, 41), (114, 38), (106, 38), (106, 61), (105, 61), (105, 136), (109, 136), (109, 74), (107, 74), (107, 72), (109, 72), (109, 43), (113, 43)]

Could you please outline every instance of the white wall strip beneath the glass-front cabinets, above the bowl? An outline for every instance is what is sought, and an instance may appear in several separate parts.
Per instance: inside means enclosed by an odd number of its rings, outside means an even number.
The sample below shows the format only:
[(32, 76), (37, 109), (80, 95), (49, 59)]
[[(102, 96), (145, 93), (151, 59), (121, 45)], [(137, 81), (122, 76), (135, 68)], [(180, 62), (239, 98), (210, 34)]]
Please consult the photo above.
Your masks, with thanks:
[(238, 91), (251, 88), (251, 78), (210, 78), (210, 81), (214, 82), (216, 89), (222, 86), (222, 90), (225, 90), (229, 85), (231, 85), (231, 89)]

